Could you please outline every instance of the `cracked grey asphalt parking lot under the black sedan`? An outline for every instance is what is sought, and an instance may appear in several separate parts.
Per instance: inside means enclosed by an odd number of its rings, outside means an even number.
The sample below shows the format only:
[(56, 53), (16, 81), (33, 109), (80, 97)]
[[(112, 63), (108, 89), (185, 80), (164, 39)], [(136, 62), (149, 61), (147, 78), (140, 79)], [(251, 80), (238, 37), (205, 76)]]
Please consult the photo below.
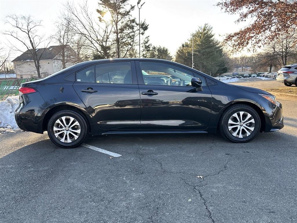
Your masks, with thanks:
[(61, 149), (47, 134), (2, 134), (0, 222), (297, 222), (297, 102), (279, 101), (285, 128), (246, 144), (110, 135)]

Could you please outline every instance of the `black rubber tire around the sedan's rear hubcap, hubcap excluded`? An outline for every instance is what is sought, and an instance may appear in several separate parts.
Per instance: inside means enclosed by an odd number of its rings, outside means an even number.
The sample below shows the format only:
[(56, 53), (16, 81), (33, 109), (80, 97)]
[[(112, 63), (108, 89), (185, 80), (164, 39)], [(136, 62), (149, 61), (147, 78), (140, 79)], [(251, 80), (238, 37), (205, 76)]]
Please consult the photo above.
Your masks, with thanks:
[[(61, 142), (55, 136), (55, 132), (53, 130), (54, 125), (59, 118), (64, 117), (64, 116), (68, 116), (68, 117), (72, 117), (72, 118), (76, 119), (80, 125), (80, 134), (74, 142), (67, 143), (67, 142), (65, 142), (65, 140), (64, 140), (64, 142)], [(50, 118), (50, 120), (48, 122), (47, 130), (48, 130), (48, 136), (50, 137), (50, 140), (54, 144), (56, 144), (57, 146), (62, 147), (62, 148), (74, 148), (74, 147), (79, 146), (86, 140), (86, 138), (88, 136), (88, 132), (89, 132), (88, 125), (87, 125), (85, 118), (78, 112), (75, 112), (72, 110), (64, 110), (64, 111), (60, 111), (60, 112), (53, 114), (53, 116)], [(63, 133), (62, 133), (62, 136), (63, 136)]]

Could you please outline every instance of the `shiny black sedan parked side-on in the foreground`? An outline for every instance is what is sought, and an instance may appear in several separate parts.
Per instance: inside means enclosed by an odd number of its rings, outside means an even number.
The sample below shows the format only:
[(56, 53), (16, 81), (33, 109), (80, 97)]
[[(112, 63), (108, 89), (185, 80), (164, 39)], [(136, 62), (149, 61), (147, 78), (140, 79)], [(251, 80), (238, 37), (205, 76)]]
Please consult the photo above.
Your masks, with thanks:
[(160, 59), (82, 62), (21, 84), (18, 126), (72, 148), (88, 135), (216, 133), (249, 142), (284, 127), (274, 95)]

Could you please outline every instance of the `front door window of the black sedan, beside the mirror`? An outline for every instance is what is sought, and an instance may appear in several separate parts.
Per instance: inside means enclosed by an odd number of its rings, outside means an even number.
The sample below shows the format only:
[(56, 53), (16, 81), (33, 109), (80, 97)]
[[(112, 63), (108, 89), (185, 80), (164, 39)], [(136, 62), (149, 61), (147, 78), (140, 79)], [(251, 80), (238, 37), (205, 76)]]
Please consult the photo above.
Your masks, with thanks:
[[(159, 62), (140, 62), (140, 69), (144, 84), (147, 85), (170, 85), (192, 86), (193, 73), (174, 65)], [(198, 76), (202, 86), (206, 86), (205, 79)]]

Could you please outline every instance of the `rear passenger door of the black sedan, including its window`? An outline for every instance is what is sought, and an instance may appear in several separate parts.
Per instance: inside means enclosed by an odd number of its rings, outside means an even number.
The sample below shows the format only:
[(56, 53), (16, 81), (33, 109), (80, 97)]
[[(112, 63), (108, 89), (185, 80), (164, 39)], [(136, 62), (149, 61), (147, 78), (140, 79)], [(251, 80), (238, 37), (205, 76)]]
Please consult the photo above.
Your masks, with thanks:
[(73, 87), (99, 128), (140, 129), (140, 96), (134, 61), (84, 68), (76, 72)]

